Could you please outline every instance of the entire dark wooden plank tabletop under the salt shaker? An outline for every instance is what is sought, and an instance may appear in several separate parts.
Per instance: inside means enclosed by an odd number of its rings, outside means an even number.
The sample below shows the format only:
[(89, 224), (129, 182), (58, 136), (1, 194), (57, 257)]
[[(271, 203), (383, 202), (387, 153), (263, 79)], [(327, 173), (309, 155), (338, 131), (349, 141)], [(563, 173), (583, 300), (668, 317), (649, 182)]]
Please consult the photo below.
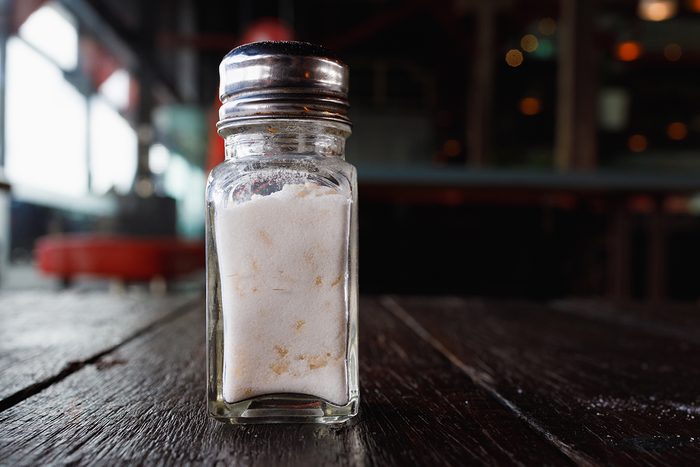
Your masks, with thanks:
[(361, 301), (361, 414), (230, 426), (193, 296), (0, 295), (0, 465), (692, 465), (700, 309)]

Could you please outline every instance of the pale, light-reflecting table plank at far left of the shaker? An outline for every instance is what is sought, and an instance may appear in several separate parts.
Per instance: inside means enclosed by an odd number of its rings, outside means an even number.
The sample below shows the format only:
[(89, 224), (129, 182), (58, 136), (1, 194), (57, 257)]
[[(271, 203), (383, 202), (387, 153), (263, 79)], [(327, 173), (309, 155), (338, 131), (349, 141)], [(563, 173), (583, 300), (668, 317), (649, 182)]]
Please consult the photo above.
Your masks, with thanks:
[(48, 291), (0, 295), (0, 409), (195, 297)]

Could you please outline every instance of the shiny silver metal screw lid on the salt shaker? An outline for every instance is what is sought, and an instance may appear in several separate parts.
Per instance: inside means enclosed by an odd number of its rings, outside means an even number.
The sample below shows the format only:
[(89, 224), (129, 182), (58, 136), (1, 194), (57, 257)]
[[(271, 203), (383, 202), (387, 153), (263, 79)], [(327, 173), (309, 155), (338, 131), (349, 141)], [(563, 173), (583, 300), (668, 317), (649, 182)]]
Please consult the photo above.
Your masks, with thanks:
[(253, 42), (236, 47), (219, 66), (223, 134), (268, 118), (331, 120), (349, 125), (348, 67), (307, 42)]

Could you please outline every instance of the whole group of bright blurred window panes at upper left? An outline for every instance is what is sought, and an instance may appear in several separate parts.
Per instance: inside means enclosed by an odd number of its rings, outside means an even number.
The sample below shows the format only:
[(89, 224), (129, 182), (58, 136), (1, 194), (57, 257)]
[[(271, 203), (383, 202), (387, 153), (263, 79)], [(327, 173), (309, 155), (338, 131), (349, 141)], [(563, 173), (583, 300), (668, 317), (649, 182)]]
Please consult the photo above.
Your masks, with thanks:
[(75, 84), (78, 54), (75, 21), (53, 2), (7, 44), (5, 172), (34, 194), (125, 193), (133, 182), (136, 132), (119, 113), (131, 77), (117, 69), (87, 97)]

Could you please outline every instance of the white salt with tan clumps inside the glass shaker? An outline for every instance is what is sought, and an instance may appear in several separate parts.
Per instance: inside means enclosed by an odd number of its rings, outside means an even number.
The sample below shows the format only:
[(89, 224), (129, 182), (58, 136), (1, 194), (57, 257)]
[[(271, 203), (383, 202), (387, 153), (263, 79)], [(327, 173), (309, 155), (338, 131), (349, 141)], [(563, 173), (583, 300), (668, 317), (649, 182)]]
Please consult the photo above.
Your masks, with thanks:
[(216, 212), (227, 402), (272, 393), (348, 402), (350, 200), (288, 184)]

